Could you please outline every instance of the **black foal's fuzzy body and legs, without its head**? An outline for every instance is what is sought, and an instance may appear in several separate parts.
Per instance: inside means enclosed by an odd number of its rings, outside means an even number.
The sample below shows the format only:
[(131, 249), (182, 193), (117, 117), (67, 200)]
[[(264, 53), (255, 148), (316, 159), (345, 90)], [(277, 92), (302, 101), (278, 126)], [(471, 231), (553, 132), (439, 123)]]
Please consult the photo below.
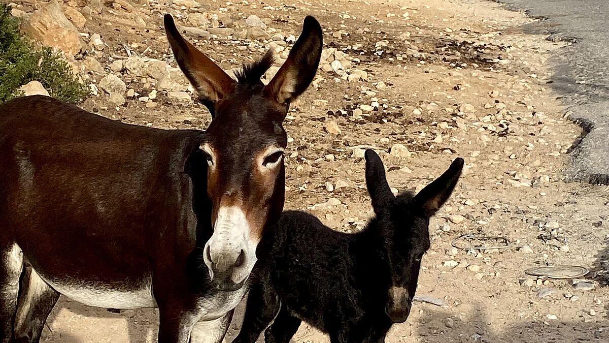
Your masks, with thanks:
[(382, 239), (375, 230), (339, 233), (311, 214), (286, 211), (268, 237), (260, 248), (271, 257), (256, 273), (263, 281), (252, 285), (234, 342), (255, 342), (273, 317), (267, 343), (289, 342), (303, 320), (332, 342), (383, 341), (392, 325), (385, 314), (390, 272), (371, 248)]

